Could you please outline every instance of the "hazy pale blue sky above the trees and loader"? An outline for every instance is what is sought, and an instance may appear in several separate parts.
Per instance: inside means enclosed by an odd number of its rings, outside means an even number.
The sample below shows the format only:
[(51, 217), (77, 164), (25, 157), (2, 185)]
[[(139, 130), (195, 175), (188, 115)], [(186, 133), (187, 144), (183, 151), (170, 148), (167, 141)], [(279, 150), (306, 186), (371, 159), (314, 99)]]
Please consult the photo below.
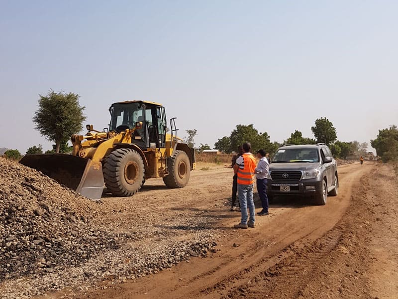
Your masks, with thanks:
[(237, 124), (312, 137), (320, 117), (369, 143), (398, 124), (397, 14), (395, 0), (0, 0), (0, 148), (51, 148), (32, 122), (49, 89), (79, 94), (98, 129), (111, 103), (148, 100), (197, 145)]

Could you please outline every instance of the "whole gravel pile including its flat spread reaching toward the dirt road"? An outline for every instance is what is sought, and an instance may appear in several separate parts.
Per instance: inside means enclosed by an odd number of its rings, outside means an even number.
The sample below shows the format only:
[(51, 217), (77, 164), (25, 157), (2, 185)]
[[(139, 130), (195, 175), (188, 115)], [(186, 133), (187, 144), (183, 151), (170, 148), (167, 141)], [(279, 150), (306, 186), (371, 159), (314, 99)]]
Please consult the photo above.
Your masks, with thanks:
[(205, 212), (149, 217), (1, 157), (0, 173), (0, 298), (120, 283), (215, 251), (214, 219)]

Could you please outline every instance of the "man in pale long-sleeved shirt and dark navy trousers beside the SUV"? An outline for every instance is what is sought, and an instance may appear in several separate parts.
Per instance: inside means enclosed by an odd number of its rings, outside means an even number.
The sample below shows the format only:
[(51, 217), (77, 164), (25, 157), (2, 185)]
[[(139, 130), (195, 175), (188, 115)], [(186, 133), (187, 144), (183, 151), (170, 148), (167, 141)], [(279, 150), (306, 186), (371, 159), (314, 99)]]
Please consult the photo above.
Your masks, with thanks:
[(269, 172), (269, 162), (267, 159), (267, 153), (264, 149), (257, 151), (257, 157), (260, 159), (255, 169), (257, 178), (257, 191), (261, 199), (261, 205), (263, 209), (257, 213), (259, 216), (268, 215), (268, 196), (267, 196), (267, 177)]

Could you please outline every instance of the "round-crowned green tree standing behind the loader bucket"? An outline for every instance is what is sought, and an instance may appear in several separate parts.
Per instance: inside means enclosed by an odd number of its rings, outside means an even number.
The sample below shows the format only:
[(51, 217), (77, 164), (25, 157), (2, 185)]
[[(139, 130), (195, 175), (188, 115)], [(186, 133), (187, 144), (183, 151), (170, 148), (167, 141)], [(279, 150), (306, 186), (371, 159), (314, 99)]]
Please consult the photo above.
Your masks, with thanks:
[(46, 96), (39, 96), (39, 109), (33, 117), (35, 129), (47, 140), (55, 142), (55, 152), (58, 153), (61, 144), (82, 130), (86, 107), (80, 106), (80, 96), (74, 93), (50, 90)]

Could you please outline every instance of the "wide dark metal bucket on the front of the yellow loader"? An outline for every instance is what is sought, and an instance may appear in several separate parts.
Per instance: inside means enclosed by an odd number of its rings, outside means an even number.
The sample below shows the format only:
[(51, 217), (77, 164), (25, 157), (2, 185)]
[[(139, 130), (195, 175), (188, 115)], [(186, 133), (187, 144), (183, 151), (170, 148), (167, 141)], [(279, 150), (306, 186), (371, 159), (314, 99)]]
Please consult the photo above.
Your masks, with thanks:
[(30, 154), (19, 163), (41, 171), (83, 196), (99, 199), (103, 191), (101, 162), (71, 154)]

